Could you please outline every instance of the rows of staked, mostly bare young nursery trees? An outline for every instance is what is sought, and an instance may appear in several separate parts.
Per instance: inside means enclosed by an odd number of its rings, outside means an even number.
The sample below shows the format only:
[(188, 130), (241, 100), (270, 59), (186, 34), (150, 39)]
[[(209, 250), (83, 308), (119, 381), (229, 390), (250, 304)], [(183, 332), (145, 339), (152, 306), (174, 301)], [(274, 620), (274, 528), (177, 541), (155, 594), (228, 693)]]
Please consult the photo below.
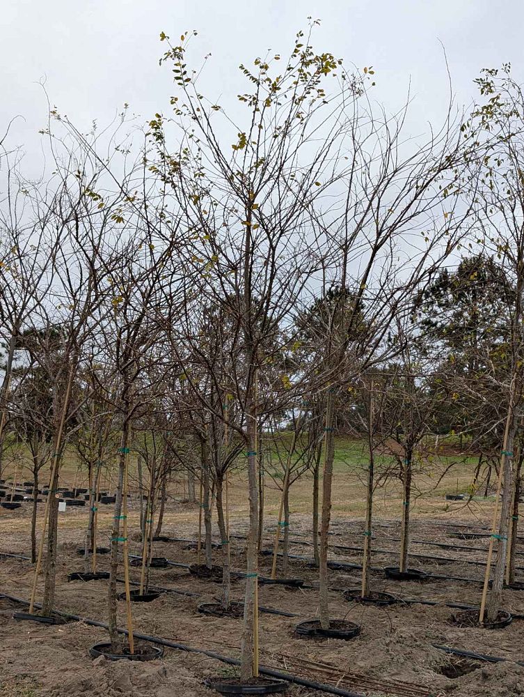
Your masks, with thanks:
[[(76, 448), (90, 482), (86, 564), (101, 473), (115, 463), (115, 652), (129, 453), (149, 472), (144, 544), (168, 477), (182, 468), (203, 482), (210, 564), (214, 498), (225, 606), (225, 487), (228, 470), (241, 468), (249, 500), (241, 673), (257, 675), (262, 467), (283, 492), (281, 523), (289, 522), (289, 487), (314, 473), (326, 628), (335, 434), (369, 446), (365, 595), (376, 486), (402, 479), (402, 570), (413, 472), (431, 461), (429, 434), (454, 431), (479, 454), (475, 486), (482, 464), (494, 464), (503, 491), (480, 617), (493, 618), (521, 466), (520, 87), (509, 66), (485, 70), (470, 114), (451, 101), (443, 125), (413, 140), (407, 107), (390, 116), (374, 101), (374, 70), (347, 70), (299, 32), (287, 59), (270, 53), (241, 66), (248, 91), (228, 115), (188, 67), (192, 36), (172, 43), (161, 34), (175, 95), (143, 130), (128, 130), (125, 109), (113, 129), (85, 135), (53, 109), (42, 130), (53, 173), (38, 183), (24, 178), (19, 152), (3, 141), (0, 467), (17, 434), (31, 450), (35, 484), (42, 466), (51, 472), (38, 540), (33, 526), (32, 604), (45, 559), (42, 612), (54, 605), (53, 492), (66, 450)], [(385, 444), (396, 464), (375, 471)]]

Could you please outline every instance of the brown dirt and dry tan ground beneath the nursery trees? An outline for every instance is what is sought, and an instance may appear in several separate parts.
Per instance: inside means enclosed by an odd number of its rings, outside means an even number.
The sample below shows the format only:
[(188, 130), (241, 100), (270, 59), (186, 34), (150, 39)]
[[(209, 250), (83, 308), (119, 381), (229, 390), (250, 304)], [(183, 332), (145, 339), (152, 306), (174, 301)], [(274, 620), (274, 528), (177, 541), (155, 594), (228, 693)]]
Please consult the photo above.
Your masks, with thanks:
[[(451, 482), (452, 480), (450, 480)], [(298, 485), (297, 485), (298, 486)], [(310, 557), (310, 515), (308, 500), (310, 482), (304, 480), (302, 489), (295, 489), (292, 496), (290, 553)], [(357, 549), (331, 549), (331, 559), (358, 564), (363, 544), (363, 489), (358, 477), (350, 479), (338, 475), (333, 487), (333, 545)], [(230, 488), (230, 530), (235, 535), (245, 535), (247, 501), (244, 482), (232, 482)], [(264, 546), (271, 547), (272, 532), (276, 523), (278, 492), (267, 492), (267, 534)], [(410, 565), (431, 574), (470, 579), (468, 581), (431, 578), (423, 583), (397, 583), (388, 581), (382, 572), (373, 575), (374, 590), (392, 592), (402, 599), (424, 599), (438, 602), (436, 606), (400, 603), (388, 608), (349, 604), (342, 597), (345, 588), (358, 587), (358, 569), (331, 571), (330, 594), (333, 618), (347, 618), (362, 627), (360, 636), (349, 642), (328, 639), (311, 641), (297, 638), (294, 626), (297, 622), (314, 618), (318, 611), (317, 572), (305, 560), (292, 559), (289, 575), (305, 579), (312, 588), (289, 590), (280, 586), (260, 586), (260, 604), (296, 615), (284, 617), (261, 613), (260, 648), (264, 666), (308, 677), (317, 682), (339, 684), (367, 697), (507, 697), (524, 695), (524, 668), (514, 661), (524, 659), (524, 622), (514, 620), (505, 629), (461, 629), (450, 625), (453, 610), (445, 602), (478, 604), (482, 589), (488, 537), (463, 540), (451, 533), (470, 530), (486, 534), (493, 503), (474, 502), (469, 507), (463, 503), (445, 502), (442, 495), (427, 492), (414, 506)], [(399, 526), (395, 521), (400, 507), (399, 493), (390, 489), (388, 496), (378, 496), (372, 557), (374, 567), (397, 564)], [(137, 529), (138, 512), (132, 502), (129, 527)], [(100, 507), (100, 533), (98, 544), (109, 542), (111, 506)], [(342, 509), (343, 512), (342, 512)], [(1, 512), (0, 551), (29, 552), (29, 507), (26, 504), (15, 512)], [(41, 516), (41, 512), (40, 512)], [(39, 516), (39, 518), (40, 518)], [(76, 556), (76, 547), (83, 542), (87, 510), (70, 508), (61, 514), (59, 527), (60, 551), (56, 608), (76, 613), (94, 620), (106, 620), (107, 582), (97, 581), (68, 583), (67, 574), (81, 570), (82, 562)], [(171, 500), (166, 512), (162, 533), (172, 537), (195, 539), (198, 526), (198, 505), (181, 504)], [(215, 539), (218, 530), (214, 526)], [(136, 538), (136, 535), (135, 535)], [(429, 543), (450, 544), (441, 548)], [(244, 569), (244, 541), (232, 539), (232, 567)], [(155, 543), (154, 553), (166, 556), (182, 564), (196, 561), (196, 553), (184, 549), (184, 542)], [(140, 553), (137, 539), (131, 542), (132, 553)], [(524, 555), (524, 546), (520, 550)], [(217, 562), (219, 556), (214, 553)], [(421, 556), (415, 556), (421, 555)], [(440, 557), (430, 559), (427, 556)], [(520, 557), (519, 557), (520, 560)], [(260, 558), (260, 573), (269, 575), (271, 560)], [(524, 556), (519, 566), (524, 569)], [(99, 557), (99, 570), (108, 569), (106, 557)], [(523, 569), (518, 575), (524, 578)], [(132, 579), (138, 579), (138, 571), (132, 569)], [(213, 650), (223, 656), (238, 657), (241, 621), (232, 618), (209, 618), (198, 613), (198, 603), (213, 599), (220, 592), (220, 585), (198, 581), (186, 569), (152, 569), (152, 584), (179, 591), (189, 591), (198, 597), (170, 592), (161, 595), (151, 604), (133, 604), (136, 631), (168, 638), (193, 648)], [(29, 561), (0, 559), (0, 590), (17, 597), (29, 598), (32, 567)], [(41, 597), (43, 579), (39, 581), (38, 598)], [(232, 596), (241, 599), (244, 582), (232, 585)], [(336, 590), (340, 589), (340, 590)], [(123, 586), (122, 586), (123, 590)], [(524, 592), (506, 590), (506, 609), (523, 613)], [(13, 603), (0, 600), (0, 696), (1, 697), (189, 697), (212, 694), (203, 686), (205, 677), (232, 675), (230, 666), (203, 656), (166, 648), (164, 658), (150, 663), (132, 663), (105, 659), (93, 661), (88, 654), (90, 646), (106, 641), (106, 631), (90, 627), (84, 622), (42, 627), (33, 622), (15, 622), (12, 618)], [(22, 608), (23, 609), (23, 608)], [(120, 626), (125, 626), (125, 604), (120, 604)], [(507, 659), (499, 664), (473, 661), (465, 664), (450, 659), (432, 644), (445, 644)], [(467, 663), (467, 662), (466, 662)], [(454, 666), (470, 668), (460, 677), (446, 677)], [(459, 672), (461, 672), (459, 670)], [(305, 687), (294, 686), (292, 697), (319, 694)]]

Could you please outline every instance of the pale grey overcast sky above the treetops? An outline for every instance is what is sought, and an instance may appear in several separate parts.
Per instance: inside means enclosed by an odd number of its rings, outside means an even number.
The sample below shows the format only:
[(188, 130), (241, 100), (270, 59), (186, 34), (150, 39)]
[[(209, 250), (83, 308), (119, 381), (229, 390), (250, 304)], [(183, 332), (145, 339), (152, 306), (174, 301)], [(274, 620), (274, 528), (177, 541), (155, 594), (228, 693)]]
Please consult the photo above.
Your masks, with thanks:
[[(150, 118), (167, 110), (170, 72), (159, 67), (165, 45), (196, 29), (193, 56), (211, 52), (200, 90), (227, 104), (244, 91), (239, 63), (268, 48), (286, 54), (308, 15), (321, 20), (314, 46), (359, 68), (374, 66), (376, 98), (395, 109), (411, 81), (411, 128), (443, 116), (447, 54), (459, 102), (475, 95), (480, 68), (511, 61), (524, 80), (522, 0), (1, 0), (0, 131), (20, 114), (11, 146), (26, 164), (40, 157), (38, 129), (47, 105), (80, 128), (106, 123), (124, 102)], [(416, 135), (413, 133), (412, 135)]]

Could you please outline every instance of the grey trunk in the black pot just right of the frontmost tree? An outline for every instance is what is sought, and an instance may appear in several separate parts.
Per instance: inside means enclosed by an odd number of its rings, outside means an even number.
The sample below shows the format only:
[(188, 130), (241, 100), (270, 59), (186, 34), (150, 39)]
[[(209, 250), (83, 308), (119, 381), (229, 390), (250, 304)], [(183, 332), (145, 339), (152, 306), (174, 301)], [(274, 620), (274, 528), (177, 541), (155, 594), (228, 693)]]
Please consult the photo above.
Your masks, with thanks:
[(322, 476), (322, 514), (320, 526), (319, 554), (319, 600), (320, 624), (329, 629), (328, 606), (328, 537), (331, 521), (331, 484), (333, 481), (333, 460), (335, 459), (335, 438), (333, 436), (333, 396), (328, 392), (326, 401), (326, 426), (324, 428), (324, 473)]

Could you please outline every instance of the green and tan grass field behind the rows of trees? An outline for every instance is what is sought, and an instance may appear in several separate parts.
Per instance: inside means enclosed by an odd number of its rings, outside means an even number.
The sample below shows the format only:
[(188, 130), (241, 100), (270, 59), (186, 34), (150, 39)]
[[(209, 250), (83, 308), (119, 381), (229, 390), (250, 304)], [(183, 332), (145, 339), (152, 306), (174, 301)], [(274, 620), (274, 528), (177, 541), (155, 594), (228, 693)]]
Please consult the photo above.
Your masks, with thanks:
[[(354, 441), (342, 436), (335, 438), (335, 462), (333, 475), (332, 513), (337, 516), (362, 517), (365, 511), (365, 477), (367, 467), (367, 447), (361, 441)], [(11, 458), (12, 459), (12, 458)], [(3, 477), (13, 480), (15, 463), (5, 458), (6, 467)], [(477, 459), (463, 454), (440, 454), (433, 461), (415, 466), (413, 477), (412, 510), (413, 515), (439, 516), (450, 510), (465, 507), (464, 504), (450, 504), (445, 500), (446, 493), (467, 491), (473, 480), (473, 471)], [(376, 456), (376, 473), (379, 475), (392, 464), (392, 457), (384, 454)], [(447, 470), (447, 471), (446, 471)], [(116, 466), (112, 477), (104, 474), (102, 489), (114, 489)], [(443, 475), (443, 473), (445, 475)], [(442, 476), (443, 475), (443, 476)], [(440, 478), (442, 477), (442, 478)], [(23, 455), (18, 458), (17, 481), (31, 480), (29, 460)], [(47, 484), (49, 467), (40, 475), (40, 482)], [(131, 457), (129, 482), (132, 489), (138, 483), (136, 459)], [(85, 473), (77, 473), (77, 459), (71, 454), (65, 458), (61, 468), (61, 486), (86, 487)], [(170, 482), (169, 493), (175, 499), (187, 496), (185, 477), (177, 475)], [(239, 461), (239, 466), (230, 475), (229, 480), (230, 515), (245, 519), (248, 511), (246, 472)], [(312, 474), (306, 472), (290, 490), (289, 503), (293, 514), (308, 514), (312, 501)], [(264, 478), (264, 512), (266, 516), (276, 516), (280, 503), (280, 491), (275, 482), (267, 475)], [(471, 501), (467, 510), (474, 516), (485, 516), (491, 510), (491, 500)], [(176, 509), (176, 506), (174, 507)], [(169, 510), (173, 510), (169, 507)], [(374, 512), (378, 517), (398, 518), (402, 510), (401, 482), (397, 477), (390, 477), (376, 488)], [(167, 514), (170, 515), (170, 512)]]

